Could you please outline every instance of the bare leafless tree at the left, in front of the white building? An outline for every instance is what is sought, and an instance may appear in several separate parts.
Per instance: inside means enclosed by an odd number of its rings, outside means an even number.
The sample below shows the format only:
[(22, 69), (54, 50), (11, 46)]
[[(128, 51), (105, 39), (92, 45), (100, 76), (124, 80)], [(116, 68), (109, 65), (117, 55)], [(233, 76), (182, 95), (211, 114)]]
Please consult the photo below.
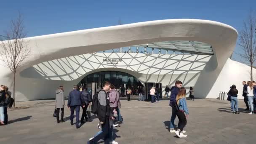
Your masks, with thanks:
[(31, 48), (28, 47), (29, 41), (25, 40), (26, 33), (24, 32), (23, 19), (21, 13), (16, 20), (11, 21), (9, 31), (0, 43), (0, 58), (3, 61), (3, 66), (8, 67), (13, 72), (13, 107), (15, 108), (15, 84), (17, 69), (22, 67), (25, 59), (30, 55)]

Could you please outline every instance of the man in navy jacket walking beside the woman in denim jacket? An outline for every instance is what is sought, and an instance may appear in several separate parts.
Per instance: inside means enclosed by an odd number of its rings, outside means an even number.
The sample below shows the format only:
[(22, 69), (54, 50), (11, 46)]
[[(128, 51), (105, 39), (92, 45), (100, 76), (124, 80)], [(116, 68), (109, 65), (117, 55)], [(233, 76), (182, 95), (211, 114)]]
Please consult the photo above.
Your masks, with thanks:
[(172, 107), (172, 113), (171, 113), (171, 120), (170, 120), (170, 133), (175, 133), (175, 129), (174, 129), (174, 120), (176, 118), (176, 115), (177, 115), (177, 109), (175, 107), (176, 105), (176, 96), (178, 95), (179, 93), (179, 90), (180, 88), (182, 87), (182, 82), (177, 80), (175, 82), (175, 86), (173, 86), (171, 88), (171, 96), (170, 96), (170, 103), (169, 103), (169, 106)]

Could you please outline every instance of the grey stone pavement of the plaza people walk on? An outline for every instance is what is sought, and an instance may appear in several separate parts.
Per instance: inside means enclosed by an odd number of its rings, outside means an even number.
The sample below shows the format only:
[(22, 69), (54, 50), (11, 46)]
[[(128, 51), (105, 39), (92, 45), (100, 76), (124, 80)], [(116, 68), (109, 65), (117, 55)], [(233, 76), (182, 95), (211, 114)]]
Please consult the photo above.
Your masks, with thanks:
[[(168, 100), (154, 104), (122, 100), (124, 123), (114, 129), (115, 141), (119, 144), (254, 144), (256, 141), (256, 115), (242, 112), (243, 101), (239, 101), (241, 113), (232, 114), (229, 101), (188, 100), (189, 118), (184, 128), (188, 137), (182, 139), (168, 132), (171, 116), (168, 103)], [(67, 121), (57, 124), (52, 117), (53, 100), (24, 101), (16, 105), (26, 109), (8, 112), (10, 124), (0, 126), (0, 144), (85, 144), (99, 131), (95, 116), (79, 129), (71, 126), (67, 107), (64, 113)]]

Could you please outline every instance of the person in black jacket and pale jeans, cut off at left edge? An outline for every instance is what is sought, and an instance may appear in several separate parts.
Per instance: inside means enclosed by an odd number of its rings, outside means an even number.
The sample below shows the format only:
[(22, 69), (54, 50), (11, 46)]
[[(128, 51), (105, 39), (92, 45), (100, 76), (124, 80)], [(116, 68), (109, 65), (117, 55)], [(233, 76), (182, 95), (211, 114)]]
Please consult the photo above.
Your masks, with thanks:
[(5, 114), (4, 114), (4, 106), (5, 106), (5, 98), (6, 98), (6, 90), (5, 85), (0, 86), (0, 122), (2, 125), (5, 124)]

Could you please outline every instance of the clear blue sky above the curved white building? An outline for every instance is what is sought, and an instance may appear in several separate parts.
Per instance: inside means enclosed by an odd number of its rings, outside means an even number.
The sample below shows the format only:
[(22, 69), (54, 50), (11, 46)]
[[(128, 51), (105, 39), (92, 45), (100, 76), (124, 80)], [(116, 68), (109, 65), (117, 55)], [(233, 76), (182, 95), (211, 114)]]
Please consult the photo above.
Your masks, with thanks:
[[(0, 35), (20, 11), (28, 36), (160, 19), (207, 19), (238, 31), (256, 0), (0, 0)], [(236, 52), (239, 47), (236, 46)], [(233, 54), (232, 59), (243, 61)]]

